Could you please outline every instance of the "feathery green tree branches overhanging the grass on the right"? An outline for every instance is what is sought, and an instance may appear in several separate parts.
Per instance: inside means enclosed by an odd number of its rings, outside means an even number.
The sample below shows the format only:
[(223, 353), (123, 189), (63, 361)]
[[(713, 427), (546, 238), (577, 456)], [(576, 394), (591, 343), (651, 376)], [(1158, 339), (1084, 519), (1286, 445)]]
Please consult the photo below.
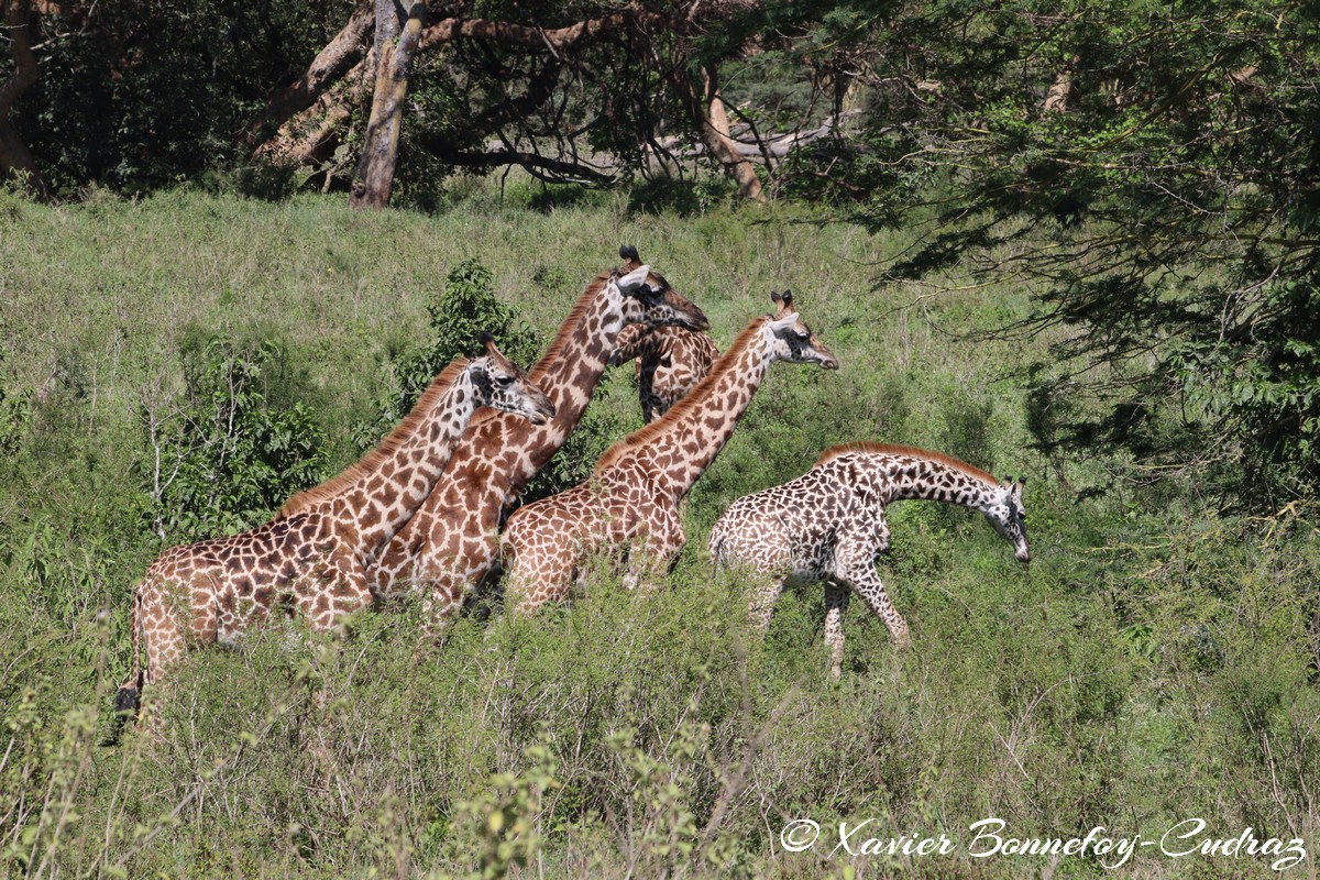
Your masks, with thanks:
[(803, 51), (874, 88), (867, 149), (816, 156), (846, 173), (808, 194), (906, 227), (933, 195), (890, 277), (1012, 278), (1036, 296), (1018, 330), (1074, 329), (1036, 367), (1043, 449), (1196, 467), (1226, 504), (1315, 492), (1315, 7), (855, 3), (821, 29)]

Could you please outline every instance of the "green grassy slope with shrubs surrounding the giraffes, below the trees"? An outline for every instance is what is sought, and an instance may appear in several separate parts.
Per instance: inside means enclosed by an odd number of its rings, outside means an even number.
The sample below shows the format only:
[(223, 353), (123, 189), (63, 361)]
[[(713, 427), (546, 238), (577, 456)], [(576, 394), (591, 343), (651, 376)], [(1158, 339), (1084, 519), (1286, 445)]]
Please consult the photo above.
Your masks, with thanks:
[[(1045, 340), (974, 336), (1023, 314), (1027, 292), (876, 288), (903, 235), (697, 208), (519, 187), (455, 193), (430, 216), (0, 194), (0, 873), (1102, 876), (1115, 856), (974, 858), (968, 829), (1158, 840), (1199, 817), (1179, 850), (1250, 826), (1304, 840), (1290, 875), (1315, 876), (1315, 508), (1222, 517), (1118, 458), (1045, 460), (1015, 373)], [(408, 607), (360, 615), (345, 640), (276, 624), (194, 654), (158, 738), (95, 745), (135, 579), (165, 546), (350, 463), (453, 267), (487, 267), (544, 344), (622, 243), (721, 346), (788, 286), (842, 361), (772, 368), (692, 495), (672, 588), (634, 596), (602, 570), (572, 607), (467, 616), (440, 645), (418, 645)], [(227, 430), (206, 418), (235, 375), (249, 433), (222, 439), (264, 463), (235, 454), (209, 486), (189, 468)], [(561, 474), (640, 425), (630, 379), (607, 375)], [(836, 682), (820, 594), (787, 596), (762, 641), (747, 578), (713, 574), (704, 548), (733, 499), (853, 439), (1027, 474), (1035, 561), (977, 515), (896, 505), (879, 571), (912, 648), (895, 654), (854, 602)], [(793, 819), (824, 829), (810, 850), (781, 846)], [(941, 833), (957, 847), (832, 855), (837, 823), (865, 819), (854, 848)], [(1147, 847), (1122, 871), (1263, 876), (1271, 860)]]

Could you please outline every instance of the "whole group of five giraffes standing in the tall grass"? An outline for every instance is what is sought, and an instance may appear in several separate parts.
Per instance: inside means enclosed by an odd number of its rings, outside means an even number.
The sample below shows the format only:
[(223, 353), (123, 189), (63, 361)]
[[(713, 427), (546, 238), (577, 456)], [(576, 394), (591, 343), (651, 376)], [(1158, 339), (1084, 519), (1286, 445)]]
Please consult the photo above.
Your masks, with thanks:
[[(506, 606), (532, 613), (566, 599), (585, 559), (601, 553), (626, 562), (630, 586), (657, 587), (686, 544), (685, 497), (770, 365), (837, 369), (840, 361), (788, 292), (772, 294), (774, 314), (754, 318), (721, 356), (700, 307), (644, 265), (636, 248), (619, 256), (623, 264), (587, 285), (531, 371), (483, 335), (482, 356), (450, 364), (345, 472), (293, 496), (249, 532), (162, 553), (133, 592), (132, 670), (115, 701), (120, 722), (189, 648), (234, 644), (271, 615), (297, 612), (329, 629), (354, 611), (416, 595), (430, 628), (502, 570)], [(517, 509), (502, 532), (606, 367), (631, 359), (647, 425), (611, 446), (587, 480)], [(979, 509), (1026, 562), (1022, 487), (937, 453), (836, 446), (804, 476), (734, 501), (710, 534), (710, 554), (766, 582), (751, 591), (762, 629), (787, 586), (822, 581), (825, 640), (838, 676), (850, 591), (895, 644), (908, 641), (875, 574), (875, 557), (890, 542), (886, 507), (925, 499)]]

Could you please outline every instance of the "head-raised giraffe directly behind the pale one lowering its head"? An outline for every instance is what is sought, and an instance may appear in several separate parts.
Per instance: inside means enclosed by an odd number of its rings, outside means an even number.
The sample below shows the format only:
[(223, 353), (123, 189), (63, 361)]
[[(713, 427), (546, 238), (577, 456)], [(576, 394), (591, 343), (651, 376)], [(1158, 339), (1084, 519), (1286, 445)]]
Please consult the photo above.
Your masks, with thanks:
[(564, 599), (583, 558), (611, 548), (631, 549), (627, 581), (649, 584), (682, 550), (680, 505), (729, 442), (770, 365), (838, 368), (792, 310), (792, 294), (772, 296), (777, 313), (747, 325), (677, 406), (611, 446), (585, 483), (508, 519), (506, 602), (532, 613)]

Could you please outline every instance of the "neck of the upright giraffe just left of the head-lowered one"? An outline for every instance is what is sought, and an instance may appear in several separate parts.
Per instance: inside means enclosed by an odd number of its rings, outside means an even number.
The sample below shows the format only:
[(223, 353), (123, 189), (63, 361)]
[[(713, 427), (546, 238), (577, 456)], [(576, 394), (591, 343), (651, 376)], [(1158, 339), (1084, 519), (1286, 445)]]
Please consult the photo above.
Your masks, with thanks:
[(754, 321), (686, 398), (606, 453), (597, 472), (635, 455), (673, 497), (686, 496), (733, 437), (775, 360), (767, 334), (766, 319)]

